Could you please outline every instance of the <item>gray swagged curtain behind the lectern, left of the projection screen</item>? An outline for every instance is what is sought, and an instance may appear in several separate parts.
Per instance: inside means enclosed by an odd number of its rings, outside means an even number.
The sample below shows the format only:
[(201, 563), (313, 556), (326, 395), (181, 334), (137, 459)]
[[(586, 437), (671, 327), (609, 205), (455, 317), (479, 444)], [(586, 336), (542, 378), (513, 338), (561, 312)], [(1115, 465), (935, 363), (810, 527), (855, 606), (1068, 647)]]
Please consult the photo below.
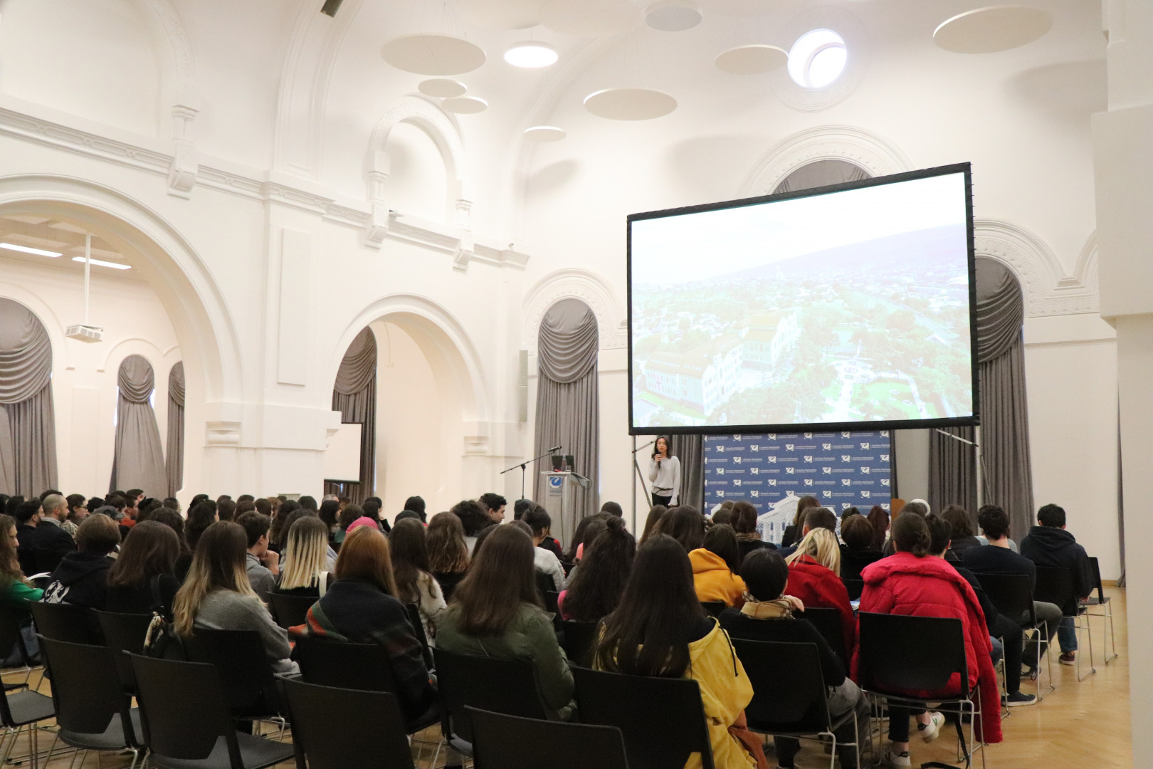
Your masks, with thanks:
[[(565, 299), (544, 314), (537, 339), (536, 430), (533, 454), (557, 444), (572, 454), (588, 489), (575, 490), (575, 520), (596, 512), (600, 488), (601, 400), (596, 359), (601, 344), (596, 315), (585, 302)], [(544, 478), (535, 474), (534, 499), (544, 499)], [(565, 540), (567, 541), (567, 538)]]

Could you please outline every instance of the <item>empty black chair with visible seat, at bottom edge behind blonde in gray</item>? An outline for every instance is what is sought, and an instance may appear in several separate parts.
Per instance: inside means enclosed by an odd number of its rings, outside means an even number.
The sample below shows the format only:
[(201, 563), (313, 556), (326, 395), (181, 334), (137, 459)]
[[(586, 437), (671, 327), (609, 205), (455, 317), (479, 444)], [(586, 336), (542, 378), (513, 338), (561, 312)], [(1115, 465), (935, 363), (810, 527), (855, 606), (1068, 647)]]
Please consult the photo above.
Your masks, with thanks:
[(155, 766), (264, 769), (293, 757), (292, 745), (236, 731), (216, 665), (137, 655), (131, 661)]

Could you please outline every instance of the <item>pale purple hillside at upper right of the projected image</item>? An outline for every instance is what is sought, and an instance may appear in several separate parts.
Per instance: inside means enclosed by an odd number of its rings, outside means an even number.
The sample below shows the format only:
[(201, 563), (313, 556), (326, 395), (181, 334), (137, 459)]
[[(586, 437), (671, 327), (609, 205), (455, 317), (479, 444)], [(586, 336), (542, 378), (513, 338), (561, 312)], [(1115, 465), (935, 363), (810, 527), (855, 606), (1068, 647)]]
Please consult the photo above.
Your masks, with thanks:
[(966, 257), (965, 249), (965, 225), (945, 225), (802, 254), (717, 276), (713, 280), (761, 280), (777, 274), (813, 276), (845, 270), (886, 273), (910, 266), (921, 267), (934, 262), (942, 263), (941, 266), (958, 267)]

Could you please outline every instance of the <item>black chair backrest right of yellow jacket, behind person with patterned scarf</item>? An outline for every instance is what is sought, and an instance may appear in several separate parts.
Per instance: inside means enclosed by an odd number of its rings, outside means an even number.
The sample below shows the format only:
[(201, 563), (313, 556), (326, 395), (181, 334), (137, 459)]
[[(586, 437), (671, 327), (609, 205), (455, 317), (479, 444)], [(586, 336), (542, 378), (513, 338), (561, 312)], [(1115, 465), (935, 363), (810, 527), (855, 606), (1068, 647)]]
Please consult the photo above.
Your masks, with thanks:
[(821, 656), (815, 643), (778, 643), (732, 639), (753, 684), (745, 707), (748, 726), (767, 734), (815, 734), (828, 730)]

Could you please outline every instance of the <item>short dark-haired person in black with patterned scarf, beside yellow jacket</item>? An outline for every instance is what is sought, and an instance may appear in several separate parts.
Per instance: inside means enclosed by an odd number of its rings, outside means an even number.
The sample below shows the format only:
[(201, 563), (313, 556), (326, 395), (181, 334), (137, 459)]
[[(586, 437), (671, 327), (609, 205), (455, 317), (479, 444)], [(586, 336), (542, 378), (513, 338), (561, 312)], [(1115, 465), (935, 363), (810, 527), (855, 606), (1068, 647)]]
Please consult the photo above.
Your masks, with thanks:
[[(864, 520), (864, 519), (861, 519)], [(734, 639), (749, 641), (776, 641), (784, 643), (814, 643), (821, 657), (821, 676), (828, 688), (829, 715), (839, 718), (850, 710), (857, 713), (857, 729), (861, 739), (868, 734), (868, 700), (857, 688), (852, 679), (845, 677), (845, 666), (815, 627), (793, 617), (794, 611), (804, 611), (804, 604), (793, 596), (782, 595), (789, 580), (789, 566), (773, 550), (761, 549), (745, 557), (740, 566), (741, 579), (748, 586), (749, 600), (739, 610), (725, 609), (721, 615), (721, 627)], [(857, 766), (853, 752), (853, 722), (837, 730), (838, 742), (850, 747), (841, 751), (842, 769)], [(800, 744), (792, 738), (778, 737), (777, 766), (793, 769), (793, 756)]]

